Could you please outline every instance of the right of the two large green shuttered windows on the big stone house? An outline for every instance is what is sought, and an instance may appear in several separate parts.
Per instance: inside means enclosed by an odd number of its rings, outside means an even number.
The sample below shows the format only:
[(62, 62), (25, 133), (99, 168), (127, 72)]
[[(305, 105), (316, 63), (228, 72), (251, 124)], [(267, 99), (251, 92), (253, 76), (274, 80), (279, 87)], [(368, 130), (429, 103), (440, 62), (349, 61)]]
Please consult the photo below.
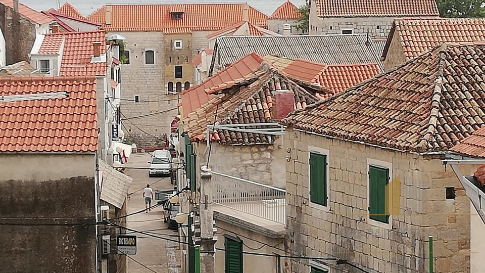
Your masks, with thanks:
[(385, 186), (389, 184), (389, 169), (369, 166), (369, 217), (389, 223), (385, 214)]

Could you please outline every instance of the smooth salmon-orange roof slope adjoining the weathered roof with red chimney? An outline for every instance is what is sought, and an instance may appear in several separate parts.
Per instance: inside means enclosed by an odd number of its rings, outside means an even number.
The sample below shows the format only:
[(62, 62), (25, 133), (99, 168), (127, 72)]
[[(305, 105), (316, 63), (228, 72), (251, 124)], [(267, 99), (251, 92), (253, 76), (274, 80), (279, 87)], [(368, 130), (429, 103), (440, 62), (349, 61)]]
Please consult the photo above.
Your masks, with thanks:
[(200, 108), (214, 98), (214, 95), (206, 93), (206, 90), (209, 88), (229, 86), (235, 82), (243, 81), (246, 78), (254, 77), (254, 71), (259, 67), (261, 62), (263, 62), (261, 56), (256, 53), (249, 54), (201, 84), (193, 86), (188, 90), (184, 90), (182, 92), (181, 102), (183, 115), (187, 116), (189, 113)]

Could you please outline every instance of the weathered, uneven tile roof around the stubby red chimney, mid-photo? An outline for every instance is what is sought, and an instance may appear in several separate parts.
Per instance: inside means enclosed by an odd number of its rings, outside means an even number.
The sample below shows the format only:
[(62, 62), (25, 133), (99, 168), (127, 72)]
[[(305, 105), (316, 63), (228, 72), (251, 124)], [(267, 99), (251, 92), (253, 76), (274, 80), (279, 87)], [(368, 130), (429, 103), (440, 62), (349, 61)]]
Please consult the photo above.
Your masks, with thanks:
[[(288, 77), (280, 73), (267, 62), (262, 62), (253, 72), (252, 79), (219, 88), (224, 95), (216, 95), (199, 109), (183, 118), (184, 130), (191, 140), (203, 141), (206, 138), (207, 125), (214, 122), (217, 111), (217, 124), (267, 123), (274, 122), (276, 101), (272, 92), (275, 90), (290, 90), (294, 93), (295, 108), (305, 108), (317, 101)], [(243, 145), (273, 143), (274, 136), (261, 133), (236, 132), (216, 129), (212, 134), (214, 141), (221, 144)]]

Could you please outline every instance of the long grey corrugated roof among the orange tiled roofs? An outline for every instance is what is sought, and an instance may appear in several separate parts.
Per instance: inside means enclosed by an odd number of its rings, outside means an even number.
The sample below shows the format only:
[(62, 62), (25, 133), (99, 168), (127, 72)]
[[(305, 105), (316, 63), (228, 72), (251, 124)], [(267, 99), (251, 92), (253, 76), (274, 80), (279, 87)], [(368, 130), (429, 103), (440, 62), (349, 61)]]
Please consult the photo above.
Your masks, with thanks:
[(288, 59), (303, 59), (316, 63), (366, 64), (380, 61), (384, 43), (373, 41), (367, 34), (294, 35), (294, 36), (223, 36), (216, 39), (214, 63), (223, 67), (256, 52)]

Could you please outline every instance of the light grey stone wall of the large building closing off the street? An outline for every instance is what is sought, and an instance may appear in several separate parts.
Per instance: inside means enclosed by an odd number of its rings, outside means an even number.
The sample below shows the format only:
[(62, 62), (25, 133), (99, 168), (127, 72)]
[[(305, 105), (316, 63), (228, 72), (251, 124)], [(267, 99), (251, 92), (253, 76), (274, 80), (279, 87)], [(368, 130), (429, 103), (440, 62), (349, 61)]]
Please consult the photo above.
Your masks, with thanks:
[[(111, 35), (113, 33), (108, 33)], [(177, 96), (168, 95), (164, 82), (164, 35), (161, 32), (120, 32), (130, 51), (130, 64), (121, 65), (122, 128), (137, 147), (160, 147), (163, 134), (177, 115)], [(155, 51), (155, 65), (144, 64), (144, 50)], [(139, 96), (139, 102), (134, 102)]]

